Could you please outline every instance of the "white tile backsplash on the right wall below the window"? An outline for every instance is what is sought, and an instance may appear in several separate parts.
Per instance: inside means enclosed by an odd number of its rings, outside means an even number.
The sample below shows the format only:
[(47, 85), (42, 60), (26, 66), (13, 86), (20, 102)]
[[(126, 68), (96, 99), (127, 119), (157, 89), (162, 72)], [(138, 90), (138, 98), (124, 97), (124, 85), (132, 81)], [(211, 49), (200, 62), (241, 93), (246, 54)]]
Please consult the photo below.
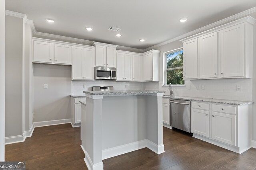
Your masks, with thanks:
[[(187, 80), (185, 84), (186, 86), (172, 86), (175, 96), (252, 101), (252, 78)], [(236, 85), (241, 85), (241, 91), (236, 90)], [(165, 94), (170, 94), (168, 86), (162, 86), (162, 82), (145, 82), (144, 89), (159, 89), (164, 90)]]

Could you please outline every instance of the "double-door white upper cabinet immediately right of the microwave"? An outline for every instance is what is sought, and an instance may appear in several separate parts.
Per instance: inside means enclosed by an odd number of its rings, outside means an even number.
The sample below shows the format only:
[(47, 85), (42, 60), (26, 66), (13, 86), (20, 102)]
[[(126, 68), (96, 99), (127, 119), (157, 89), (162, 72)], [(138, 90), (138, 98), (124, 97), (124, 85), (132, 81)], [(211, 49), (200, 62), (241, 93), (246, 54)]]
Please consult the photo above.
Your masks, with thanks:
[(132, 54), (117, 53), (117, 81), (132, 81)]

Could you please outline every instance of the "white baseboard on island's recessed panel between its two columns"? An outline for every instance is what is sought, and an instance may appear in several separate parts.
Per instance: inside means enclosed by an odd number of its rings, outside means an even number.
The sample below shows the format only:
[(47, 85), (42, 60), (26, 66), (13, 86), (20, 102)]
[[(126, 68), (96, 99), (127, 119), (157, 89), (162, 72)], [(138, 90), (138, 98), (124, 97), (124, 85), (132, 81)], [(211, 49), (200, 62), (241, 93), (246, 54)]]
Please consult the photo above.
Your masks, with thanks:
[(102, 150), (102, 160), (147, 147), (147, 139)]

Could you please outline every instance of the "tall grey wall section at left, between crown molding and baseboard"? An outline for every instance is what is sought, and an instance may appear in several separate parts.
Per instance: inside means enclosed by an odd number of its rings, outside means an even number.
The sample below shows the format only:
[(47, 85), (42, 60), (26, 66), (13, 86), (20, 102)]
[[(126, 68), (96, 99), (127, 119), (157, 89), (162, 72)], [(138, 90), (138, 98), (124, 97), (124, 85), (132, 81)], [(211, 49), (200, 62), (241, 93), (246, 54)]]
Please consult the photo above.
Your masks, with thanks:
[(6, 15), (5, 137), (22, 135), (23, 19)]

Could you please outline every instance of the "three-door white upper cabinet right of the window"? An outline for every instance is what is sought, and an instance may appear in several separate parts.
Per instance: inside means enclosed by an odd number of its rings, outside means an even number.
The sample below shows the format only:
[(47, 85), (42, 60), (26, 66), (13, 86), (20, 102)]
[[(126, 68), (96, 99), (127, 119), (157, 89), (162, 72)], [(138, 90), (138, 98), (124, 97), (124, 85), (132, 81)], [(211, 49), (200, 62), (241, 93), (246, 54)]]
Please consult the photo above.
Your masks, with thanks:
[(255, 22), (248, 16), (180, 40), (184, 49), (184, 80), (252, 78)]

